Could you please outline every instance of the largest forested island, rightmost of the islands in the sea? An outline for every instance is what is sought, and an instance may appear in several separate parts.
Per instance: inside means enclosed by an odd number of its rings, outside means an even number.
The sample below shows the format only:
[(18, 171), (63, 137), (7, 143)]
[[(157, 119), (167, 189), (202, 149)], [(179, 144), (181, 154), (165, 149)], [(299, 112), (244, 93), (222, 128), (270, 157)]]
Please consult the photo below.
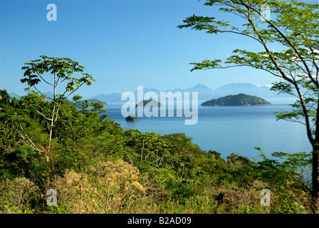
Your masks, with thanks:
[(270, 102), (255, 95), (239, 93), (237, 95), (226, 95), (221, 98), (207, 100), (201, 106), (235, 106), (235, 105), (271, 105)]

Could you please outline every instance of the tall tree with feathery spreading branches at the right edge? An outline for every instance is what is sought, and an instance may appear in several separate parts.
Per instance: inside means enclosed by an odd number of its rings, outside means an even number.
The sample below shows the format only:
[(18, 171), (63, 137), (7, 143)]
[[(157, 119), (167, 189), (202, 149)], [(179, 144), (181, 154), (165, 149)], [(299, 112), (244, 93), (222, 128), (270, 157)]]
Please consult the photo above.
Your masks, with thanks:
[[(266, 5), (265, 5), (266, 4)], [(190, 16), (178, 28), (206, 33), (231, 33), (258, 43), (262, 51), (236, 49), (225, 60), (204, 60), (191, 71), (249, 66), (280, 78), (271, 90), (296, 96), (291, 112), (277, 113), (278, 119), (305, 125), (312, 151), (312, 212), (319, 213), (319, 4), (278, 0), (206, 0), (206, 6), (234, 14), (236, 21), (209, 16)], [(271, 18), (263, 8), (271, 9)], [(234, 26), (244, 19), (245, 24)], [(274, 46), (282, 48), (274, 51)]]

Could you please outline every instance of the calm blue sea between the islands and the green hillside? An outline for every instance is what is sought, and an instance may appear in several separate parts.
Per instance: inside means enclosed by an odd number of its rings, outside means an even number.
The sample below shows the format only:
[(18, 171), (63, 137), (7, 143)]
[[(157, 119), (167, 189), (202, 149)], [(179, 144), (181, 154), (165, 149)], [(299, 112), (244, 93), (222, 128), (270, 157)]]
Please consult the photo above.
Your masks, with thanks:
[[(199, 103), (200, 104), (200, 103)], [(285, 120), (276, 121), (275, 112), (291, 110), (290, 105), (263, 106), (199, 106), (196, 125), (184, 125), (185, 118), (139, 118), (127, 122), (121, 115), (122, 103), (109, 103), (105, 107), (110, 119), (124, 128), (155, 132), (160, 135), (185, 133), (202, 150), (216, 150), (222, 157), (236, 152), (245, 157), (258, 157), (253, 147), (261, 147), (271, 157), (272, 152), (310, 152), (305, 126)]]

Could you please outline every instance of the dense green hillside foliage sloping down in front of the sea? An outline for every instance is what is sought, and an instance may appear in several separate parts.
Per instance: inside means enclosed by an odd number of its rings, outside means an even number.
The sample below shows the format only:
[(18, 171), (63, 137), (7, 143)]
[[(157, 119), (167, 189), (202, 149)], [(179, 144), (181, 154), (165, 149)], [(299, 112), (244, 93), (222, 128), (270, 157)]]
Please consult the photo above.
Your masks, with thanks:
[[(35, 108), (53, 101), (0, 90), (0, 212), (303, 213), (309, 212), (309, 155), (261, 160), (201, 150), (184, 133), (121, 128), (100, 103), (63, 100), (50, 125)], [(38, 148), (35, 150), (34, 148)], [(256, 154), (257, 155), (257, 154)], [(47, 159), (49, 157), (49, 159)], [(261, 206), (261, 190), (271, 206)], [(57, 192), (48, 206), (46, 192)]]

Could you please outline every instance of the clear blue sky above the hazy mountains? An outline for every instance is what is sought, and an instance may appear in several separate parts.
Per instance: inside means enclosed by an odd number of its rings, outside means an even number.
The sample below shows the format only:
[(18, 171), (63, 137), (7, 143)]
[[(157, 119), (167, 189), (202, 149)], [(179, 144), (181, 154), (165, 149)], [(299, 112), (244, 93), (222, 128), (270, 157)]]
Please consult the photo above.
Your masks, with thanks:
[[(251, 68), (193, 71), (189, 63), (226, 58), (257, 43), (231, 34), (177, 28), (187, 16), (223, 16), (197, 0), (0, 0), (0, 88), (22, 94), (21, 67), (39, 56), (66, 57), (95, 78), (78, 93), (134, 91), (137, 86), (169, 90), (198, 83), (216, 89), (228, 83), (269, 85), (276, 78)], [(48, 21), (48, 4), (57, 21)], [(229, 17), (229, 18), (227, 18)], [(49, 91), (49, 88), (41, 88)]]

